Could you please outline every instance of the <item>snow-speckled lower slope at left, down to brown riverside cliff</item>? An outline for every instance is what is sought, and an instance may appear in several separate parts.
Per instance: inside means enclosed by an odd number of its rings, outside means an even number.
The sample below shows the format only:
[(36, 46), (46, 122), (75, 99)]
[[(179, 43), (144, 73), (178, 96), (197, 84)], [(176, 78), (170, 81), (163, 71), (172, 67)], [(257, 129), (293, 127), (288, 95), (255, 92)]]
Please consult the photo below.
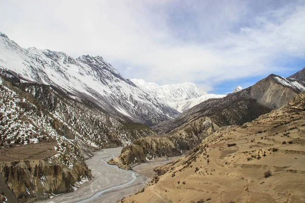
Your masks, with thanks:
[(57, 87), (0, 76), (0, 171), (21, 202), (74, 191), (91, 177), (93, 152), (154, 135)]

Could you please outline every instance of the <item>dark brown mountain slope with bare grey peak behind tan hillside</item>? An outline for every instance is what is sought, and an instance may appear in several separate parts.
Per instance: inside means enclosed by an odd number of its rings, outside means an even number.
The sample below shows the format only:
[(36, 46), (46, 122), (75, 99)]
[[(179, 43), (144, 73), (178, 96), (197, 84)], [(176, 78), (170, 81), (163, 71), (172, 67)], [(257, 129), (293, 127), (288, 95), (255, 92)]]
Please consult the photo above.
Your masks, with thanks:
[(240, 125), (283, 107), (304, 90), (305, 82), (272, 74), (226, 97), (208, 99), (173, 120), (153, 126), (153, 129), (159, 134), (172, 133), (175, 128), (202, 117), (209, 117), (220, 127)]

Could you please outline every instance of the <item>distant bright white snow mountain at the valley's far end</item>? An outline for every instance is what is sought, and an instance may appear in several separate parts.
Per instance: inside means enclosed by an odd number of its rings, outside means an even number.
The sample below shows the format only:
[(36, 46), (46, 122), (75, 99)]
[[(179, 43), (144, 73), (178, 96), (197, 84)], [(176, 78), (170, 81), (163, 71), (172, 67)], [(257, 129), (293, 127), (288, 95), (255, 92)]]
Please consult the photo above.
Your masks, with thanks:
[(166, 104), (180, 113), (209, 98), (220, 98), (226, 96), (224, 94), (209, 94), (191, 82), (172, 85), (158, 85), (153, 82), (146, 82), (142, 79), (130, 80), (144, 92), (157, 98), (160, 103)]

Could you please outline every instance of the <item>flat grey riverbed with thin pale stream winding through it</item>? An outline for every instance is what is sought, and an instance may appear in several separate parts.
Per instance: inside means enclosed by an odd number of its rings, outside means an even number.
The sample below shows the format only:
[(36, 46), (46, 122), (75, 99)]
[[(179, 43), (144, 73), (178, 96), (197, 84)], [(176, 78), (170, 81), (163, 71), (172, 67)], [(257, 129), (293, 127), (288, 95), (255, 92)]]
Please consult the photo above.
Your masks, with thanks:
[(118, 156), (121, 149), (104, 149), (86, 160), (92, 170), (93, 180), (84, 183), (75, 192), (58, 195), (42, 202), (117, 202), (143, 188), (147, 181), (144, 175), (124, 171), (104, 162), (111, 159), (112, 155)]

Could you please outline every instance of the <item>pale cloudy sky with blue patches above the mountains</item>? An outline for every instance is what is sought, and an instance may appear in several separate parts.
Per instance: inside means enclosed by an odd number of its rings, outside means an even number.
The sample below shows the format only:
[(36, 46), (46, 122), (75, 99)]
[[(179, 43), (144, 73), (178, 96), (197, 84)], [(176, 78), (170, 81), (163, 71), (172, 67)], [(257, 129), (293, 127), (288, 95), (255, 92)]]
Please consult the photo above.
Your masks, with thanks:
[(23, 48), (100, 55), (125, 78), (229, 93), (305, 67), (305, 1), (0, 0)]

